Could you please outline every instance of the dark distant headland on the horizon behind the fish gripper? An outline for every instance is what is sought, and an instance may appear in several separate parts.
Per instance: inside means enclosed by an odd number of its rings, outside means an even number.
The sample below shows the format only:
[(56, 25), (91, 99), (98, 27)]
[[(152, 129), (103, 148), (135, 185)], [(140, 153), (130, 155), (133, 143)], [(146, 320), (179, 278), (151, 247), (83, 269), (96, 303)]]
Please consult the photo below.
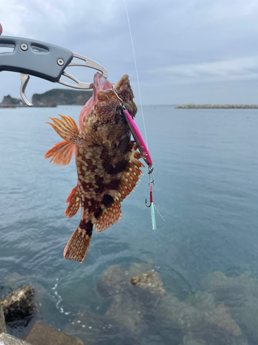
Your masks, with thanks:
[[(84, 106), (92, 97), (92, 90), (64, 90), (54, 88), (42, 94), (35, 93), (32, 96), (34, 107), (56, 107), (56, 106)], [(12, 98), (10, 95), (3, 97), (0, 108), (20, 108), (25, 106), (19, 98)]]

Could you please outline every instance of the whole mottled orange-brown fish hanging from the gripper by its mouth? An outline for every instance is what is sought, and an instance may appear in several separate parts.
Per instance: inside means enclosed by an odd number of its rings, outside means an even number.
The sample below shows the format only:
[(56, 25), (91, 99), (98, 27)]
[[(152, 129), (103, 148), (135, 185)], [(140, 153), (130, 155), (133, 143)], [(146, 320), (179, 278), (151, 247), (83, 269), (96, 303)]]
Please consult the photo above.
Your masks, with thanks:
[(122, 217), (120, 203), (137, 186), (143, 175), (140, 168), (144, 167), (139, 145), (131, 141), (127, 119), (111, 90), (116, 87), (133, 119), (137, 107), (129, 76), (124, 75), (115, 85), (97, 72), (92, 86), (92, 98), (80, 112), (78, 127), (72, 117), (63, 115), (47, 122), (64, 141), (48, 150), (45, 159), (67, 166), (75, 155), (78, 180), (67, 198), (65, 216), (73, 217), (81, 208), (81, 217), (63, 255), (80, 263), (87, 255), (93, 228), (103, 231)]

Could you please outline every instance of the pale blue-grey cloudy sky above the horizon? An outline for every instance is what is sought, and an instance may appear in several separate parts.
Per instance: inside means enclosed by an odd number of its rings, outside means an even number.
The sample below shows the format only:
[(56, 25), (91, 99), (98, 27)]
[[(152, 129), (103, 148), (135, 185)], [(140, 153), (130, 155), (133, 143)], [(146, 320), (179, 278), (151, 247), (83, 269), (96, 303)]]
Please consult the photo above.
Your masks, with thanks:
[[(257, 0), (126, 1), (144, 105), (258, 103)], [(0, 23), (98, 61), (111, 82), (127, 73), (139, 104), (125, 0), (0, 0)], [(86, 70), (69, 72), (92, 81)], [(32, 77), (26, 95), (60, 87)], [(19, 88), (0, 73), (0, 101)]]

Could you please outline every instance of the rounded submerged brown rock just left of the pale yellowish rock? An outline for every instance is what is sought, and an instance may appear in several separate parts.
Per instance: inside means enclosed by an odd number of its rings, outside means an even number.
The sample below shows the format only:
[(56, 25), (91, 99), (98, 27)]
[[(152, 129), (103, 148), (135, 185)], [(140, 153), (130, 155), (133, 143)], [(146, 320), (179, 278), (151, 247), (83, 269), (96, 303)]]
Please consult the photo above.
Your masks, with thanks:
[(112, 265), (98, 278), (97, 290), (103, 297), (109, 297), (122, 293), (129, 285), (126, 270), (118, 265)]

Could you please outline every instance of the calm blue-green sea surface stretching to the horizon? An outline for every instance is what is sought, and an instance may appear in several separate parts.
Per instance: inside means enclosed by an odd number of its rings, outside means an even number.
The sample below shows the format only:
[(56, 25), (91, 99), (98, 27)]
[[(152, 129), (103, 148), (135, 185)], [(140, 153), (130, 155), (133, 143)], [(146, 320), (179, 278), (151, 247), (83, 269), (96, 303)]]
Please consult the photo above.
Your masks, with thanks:
[[(85, 344), (188, 345), (192, 338), (196, 344), (257, 344), (258, 111), (145, 106), (153, 201), (165, 221), (156, 212), (152, 230), (145, 206), (149, 176), (142, 169), (138, 188), (122, 202), (122, 219), (94, 232), (79, 264), (63, 258), (80, 221), (80, 211), (70, 219), (64, 215), (76, 186), (74, 159), (59, 167), (44, 155), (62, 140), (47, 118), (61, 114), (78, 123), (81, 108), (0, 109), (0, 295), (33, 285), (36, 321)], [(144, 137), (140, 110), (136, 124)], [(98, 282), (111, 265), (125, 275), (155, 270), (165, 297), (149, 306), (144, 299), (151, 297), (142, 293), (125, 293), (121, 304), (122, 293), (105, 296)], [(186, 303), (198, 293), (209, 294), (213, 307)], [(160, 307), (164, 298), (171, 306), (166, 312)], [(126, 301), (133, 301), (129, 310)], [(193, 308), (198, 315), (207, 311), (205, 322), (180, 324), (173, 303), (182, 307), (184, 319), (191, 319)], [(223, 308), (228, 321), (216, 322)], [(28, 319), (22, 329), (11, 324), (8, 331), (23, 337), (33, 322)], [(232, 329), (223, 326), (227, 322)]]

